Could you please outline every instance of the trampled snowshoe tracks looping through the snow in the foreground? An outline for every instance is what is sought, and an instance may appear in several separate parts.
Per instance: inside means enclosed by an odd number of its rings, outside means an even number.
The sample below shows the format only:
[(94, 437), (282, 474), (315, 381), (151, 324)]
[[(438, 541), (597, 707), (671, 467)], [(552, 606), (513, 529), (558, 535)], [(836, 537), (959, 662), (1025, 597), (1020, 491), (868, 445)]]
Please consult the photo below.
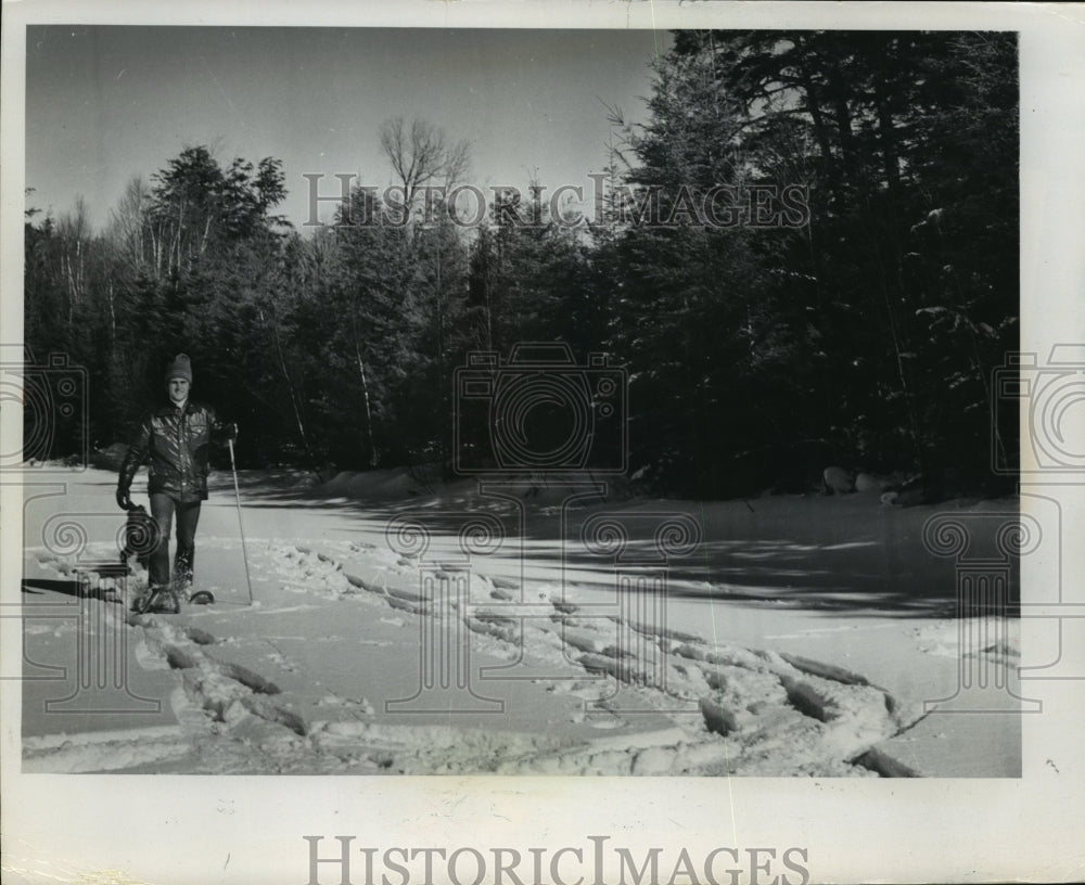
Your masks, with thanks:
[[(304, 599), (293, 606), (248, 610), (248, 617), (305, 611), (332, 600), (376, 606), (382, 624), (404, 630), (417, 630), (417, 618), (432, 616), (418, 591), (404, 589), (417, 586), (417, 565), (390, 551), (352, 542), (255, 539), (250, 554), (255, 581), (273, 582), (283, 593)], [(38, 553), (38, 561), (60, 574), (71, 572), (71, 563), (62, 560)], [(358, 562), (369, 566), (366, 577), (350, 567)], [(516, 581), (473, 575), (470, 612), (456, 613), (471, 630), (472, 652), (515, 660), (522, 638), (523, 652), (533, 660), (570, 668), (571, 678), (544, 688), (577, 698), (577, 720), (595, 727), (599, 738), (392, 723), (373, 718), (368, 698), (334, 693), (321, 697), (317, 708), (337, 718), (302, 716), (276, 682), (277, 670), (302, 669), (277, 640), (301, 637), (264, 636), (269, 666), (260, 672), (220, 654), (239, 641), (234, 637), (168, 616), (128, 614), (141, 666), (177, 675), (169, 703), (179, 726), (153, 735), (133, 731), (27, 739), (24, 766), (28, 771), (191, 773), (909, 773), (880, 762), (870, 751), (920, 717), (859, 674), (793, 655), (712, 645), (692, 634), (593, 614), (564, 599), (560, 586), (528, 582), (521, 599), (550, 603), (550, 616), (540, 618), (538, 604), (518, 606), (520, 589)], [(122, 616), (122, 606), (99, 604), (112, 617)], [(199, 620), (214, 611), (189, 608), (186, 615)], [(622, 628), (636, 634), (651, 658), (648, 667), (615, 644)], [(658, 684), (661, 667), (666, 691)], [(618, 685), (623, 703), (615, 705)], [(668, 713), (676, 705), (694, 714)], [(630, 706), (662, 715), (672, 726), (608, 735), (636, 718)]]

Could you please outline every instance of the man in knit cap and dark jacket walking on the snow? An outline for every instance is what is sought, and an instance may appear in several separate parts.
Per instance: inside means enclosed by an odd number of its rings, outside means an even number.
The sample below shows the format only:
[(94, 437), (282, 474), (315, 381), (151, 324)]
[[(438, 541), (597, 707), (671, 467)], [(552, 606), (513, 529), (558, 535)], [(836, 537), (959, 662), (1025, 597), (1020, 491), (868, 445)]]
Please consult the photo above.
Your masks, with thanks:
[(237, 424), (224, 424), (214, 410), (189, 399), (192, 362), (178, 354), (166, 369), (168, 402), (150, 411), (120, 465), (117, 505), (132, 508), (129, 489), (136, 472), (150, 463), (148, 493), (151, 517), (158, 527), (158, 543), (151, 552), (148, 591), (170, 586), (169, 533), (176, 517), (177, 554), (174, 559), (174, 603), (188, 598), (195, 564), (200, 504), (207, 500), (208, 450), (213, 442), (238, 438)]

